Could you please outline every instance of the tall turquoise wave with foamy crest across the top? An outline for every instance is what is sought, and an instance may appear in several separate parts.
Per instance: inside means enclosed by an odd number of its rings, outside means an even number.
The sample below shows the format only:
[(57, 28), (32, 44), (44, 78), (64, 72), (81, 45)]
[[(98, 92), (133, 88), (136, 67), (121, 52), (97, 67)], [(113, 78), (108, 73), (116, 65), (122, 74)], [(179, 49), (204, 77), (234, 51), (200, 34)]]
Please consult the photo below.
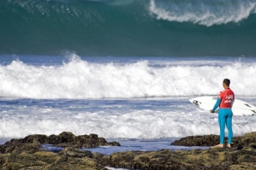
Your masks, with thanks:
[(3, 0), (0, 54), (256, 56), (255, 5), (255, 0)]

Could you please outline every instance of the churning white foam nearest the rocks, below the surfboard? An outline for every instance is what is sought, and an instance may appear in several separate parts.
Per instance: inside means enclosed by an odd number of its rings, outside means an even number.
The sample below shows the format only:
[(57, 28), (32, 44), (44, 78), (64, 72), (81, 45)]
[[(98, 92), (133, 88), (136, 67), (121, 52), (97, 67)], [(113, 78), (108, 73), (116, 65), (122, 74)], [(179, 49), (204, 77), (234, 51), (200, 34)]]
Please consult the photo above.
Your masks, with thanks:
[[(107, 101), (95, 101), (91, 109), (56, 108), (31, 105), (1, 107), (8, 114), (0, 114), (0, 138), (24, 138), (29, 134), (76, 135), (95, 133), (104, 138), (181, 138), (191, 135), (219, 134), (217, 114), (202, 112), (187, 99), (175, 99), (170, 104), (143, 108), (141, 103), (119, 102), (123, 107), (103, 108)], [(62, 101), (58, 101), (62, 103)], [(136, 104), (137, 103), (137, 104)], [(161, 102), (160, 102), (161, 103)], [(178, 105), (174, 105), (177, 103)], [(132, 108), (136, 104), (136, 107)], [(63, 104), (60, 104), (63, 105)], [(76, 107), (76, 103), (72, 103)], [(183, 114), (182, 114), (183, 113)], [(185, 113), (185, 114), (184, 114)], [(235, 135), (255, 132), (255, 117), (234, 116)]]

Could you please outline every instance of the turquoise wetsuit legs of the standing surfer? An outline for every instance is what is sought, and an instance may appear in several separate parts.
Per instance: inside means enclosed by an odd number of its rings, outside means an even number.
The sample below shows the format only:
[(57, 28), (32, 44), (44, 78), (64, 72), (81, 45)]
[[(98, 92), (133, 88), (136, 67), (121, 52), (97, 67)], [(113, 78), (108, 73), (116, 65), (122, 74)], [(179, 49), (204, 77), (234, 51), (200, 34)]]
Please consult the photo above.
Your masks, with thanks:
[(220, 126), (220, 144), (224, 144), (225, 138), (225, 126), (227, 125), (229, 131), (229, 141), (228, 144), (231, 144), (233, 138), (232, 131), (232, 110), (230, 108), (220, 108), (218, 121)]

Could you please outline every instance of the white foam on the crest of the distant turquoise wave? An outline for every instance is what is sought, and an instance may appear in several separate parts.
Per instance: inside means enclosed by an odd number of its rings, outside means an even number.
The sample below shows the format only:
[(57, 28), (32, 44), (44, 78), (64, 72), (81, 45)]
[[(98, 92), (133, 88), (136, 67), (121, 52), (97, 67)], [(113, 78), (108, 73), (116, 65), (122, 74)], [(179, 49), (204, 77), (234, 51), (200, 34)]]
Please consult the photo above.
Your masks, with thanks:
[(178, 22), (192, 22), (204, 26), (239, 22), (255, 13), (253, 0), (235, 1), (173, 1), (150, 0), (149, 11), (157, 19)]

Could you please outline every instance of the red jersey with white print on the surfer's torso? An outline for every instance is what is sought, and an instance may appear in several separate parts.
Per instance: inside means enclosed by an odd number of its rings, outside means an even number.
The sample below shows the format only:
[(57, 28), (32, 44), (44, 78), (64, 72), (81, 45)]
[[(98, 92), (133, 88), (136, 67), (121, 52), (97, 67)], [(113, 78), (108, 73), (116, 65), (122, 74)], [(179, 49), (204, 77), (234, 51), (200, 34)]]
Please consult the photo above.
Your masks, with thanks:
[(235, 99), (235, 94), (231, 89), (227, 88), (219, 93), (218, 98), (221, 99), (219, 108), (231, 108), (231, 104)]

